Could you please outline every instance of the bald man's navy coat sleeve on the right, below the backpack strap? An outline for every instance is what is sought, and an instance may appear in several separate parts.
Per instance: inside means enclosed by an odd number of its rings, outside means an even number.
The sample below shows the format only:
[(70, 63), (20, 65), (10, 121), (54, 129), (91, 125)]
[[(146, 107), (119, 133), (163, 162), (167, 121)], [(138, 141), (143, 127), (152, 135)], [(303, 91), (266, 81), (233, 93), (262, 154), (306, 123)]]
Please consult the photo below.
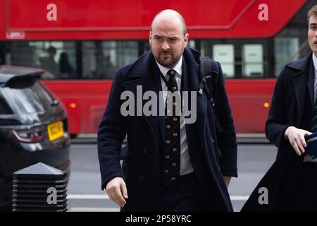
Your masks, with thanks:
[(224, 176), (237, 177), (237, 138), (231, 114), (228, 95), (225, 91), (225, 78), (218, 64), (218, 84), (216, 112), (223, 132), (218, 133), (218, 145), (221, 152), (220, 169)]

